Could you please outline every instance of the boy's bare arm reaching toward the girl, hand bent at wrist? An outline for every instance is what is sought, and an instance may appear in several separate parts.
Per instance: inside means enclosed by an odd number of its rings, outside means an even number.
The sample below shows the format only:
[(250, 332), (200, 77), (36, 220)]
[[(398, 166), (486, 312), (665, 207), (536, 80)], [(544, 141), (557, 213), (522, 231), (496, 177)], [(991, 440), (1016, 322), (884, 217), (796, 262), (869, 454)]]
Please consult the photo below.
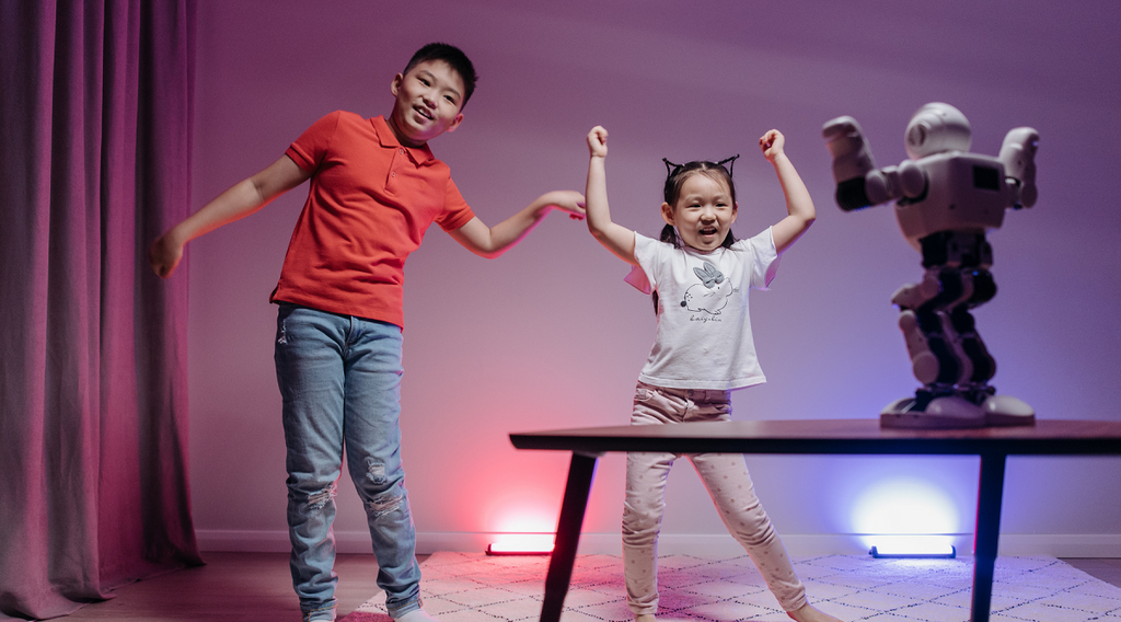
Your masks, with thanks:
[(469, 251), (493, 259), (520, 242), (553, 210), (567, 212), (575, 220), (583, 219), (584, 196), (576, 191), (553, 191), (492, 228), (475, 216), (448, 234)]

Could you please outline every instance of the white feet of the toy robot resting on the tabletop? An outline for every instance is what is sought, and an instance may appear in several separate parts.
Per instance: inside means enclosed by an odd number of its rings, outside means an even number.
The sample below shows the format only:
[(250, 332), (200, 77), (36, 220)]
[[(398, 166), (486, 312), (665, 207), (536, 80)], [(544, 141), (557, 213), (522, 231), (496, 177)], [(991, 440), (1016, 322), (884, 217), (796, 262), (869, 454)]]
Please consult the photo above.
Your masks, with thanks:
[[(924, 394), (926, 393), (926, 394)], [(980, 405), (957, 396), (914, 398), (889, 403), (880, 411), (880, 427), (904, 429), (964, 429), (991, 426), (1030, 426), (1036, 411), (1011, 396), (989, 396)]]

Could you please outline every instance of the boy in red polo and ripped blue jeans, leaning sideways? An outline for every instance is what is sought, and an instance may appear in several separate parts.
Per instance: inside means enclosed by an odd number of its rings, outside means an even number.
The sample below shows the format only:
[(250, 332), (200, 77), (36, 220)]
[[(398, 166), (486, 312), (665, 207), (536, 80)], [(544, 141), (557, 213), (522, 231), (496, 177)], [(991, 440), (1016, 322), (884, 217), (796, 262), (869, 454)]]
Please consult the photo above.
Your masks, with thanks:
[(435, 221), (467, 250), (502, 254), (554, 208), (583, 217), (576, 192), (541, 195), (490, 229), (474, 215), (427, 142), (454, 131), (475, 72), (457, 48), (420, 48), (390, 85), (388, 118), (333, 112), (268, 168), (168, 230), (149, 250), (160, 277), (184, 245), (311, 179), (280, 280), (277, 382), (284, 398), (293, 584), (304, 620), (334, 620), (335, 481), (348, 468), (367, 509), (378, 585), (389, 615), (421, 609), (416, 536), (400, 464), (402, 269)]

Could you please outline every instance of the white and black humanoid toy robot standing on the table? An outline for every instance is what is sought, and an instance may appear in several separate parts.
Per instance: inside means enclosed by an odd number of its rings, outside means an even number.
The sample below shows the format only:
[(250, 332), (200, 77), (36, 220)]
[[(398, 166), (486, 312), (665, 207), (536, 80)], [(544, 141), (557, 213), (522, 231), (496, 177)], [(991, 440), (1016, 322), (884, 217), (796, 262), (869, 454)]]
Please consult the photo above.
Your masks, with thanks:
[(998, 396), (989, 384), (997, 371), (978, 335), (970, 309), (997, 294), (989, 268), (985, 231), (1000, 228), (1006, 208), (1036, 203), (1035, 155), (1039, 133), (1016, 128), (995, 158), (970, 154), (970, 123), (956, 108), (924, 105), (905, 138), (910, 157), (877, 168), (852, 117), (822, 129), (833, 155), (837, 205), (846, 212), (896, 201), (904, 236), (923, 254), (925, 273), (891, 297), (915, 378), (912, 398), (888, 405), (882, 427), (966, 428), (1025, 425), (1035, 411), (1023, 401)]

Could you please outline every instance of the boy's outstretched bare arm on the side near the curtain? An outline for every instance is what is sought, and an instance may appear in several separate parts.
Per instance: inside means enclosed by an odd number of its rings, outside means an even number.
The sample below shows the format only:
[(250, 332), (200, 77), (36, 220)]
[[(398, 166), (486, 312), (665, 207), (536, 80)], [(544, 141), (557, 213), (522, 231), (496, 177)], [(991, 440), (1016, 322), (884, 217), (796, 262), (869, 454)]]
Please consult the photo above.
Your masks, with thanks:
[(265, 170), (234, 184), (167, 230), (148, 249), (148, 264), (156, 275), (166, 279), (183, 259), (183, 248), (187, 242), (252, 214), (311, 176), (288, 156), (280, 156)]

